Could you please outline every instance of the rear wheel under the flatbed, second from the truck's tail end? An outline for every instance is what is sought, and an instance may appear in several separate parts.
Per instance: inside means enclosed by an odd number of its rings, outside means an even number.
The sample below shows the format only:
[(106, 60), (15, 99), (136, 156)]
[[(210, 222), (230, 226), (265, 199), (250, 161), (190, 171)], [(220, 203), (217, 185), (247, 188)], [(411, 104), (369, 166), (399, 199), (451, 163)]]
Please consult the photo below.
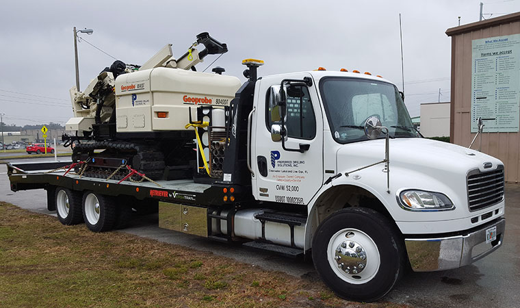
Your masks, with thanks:
[(83, 194), (83, 220), (90, 231), (105, 232), (114, 229), (116, 203), (114, 198), (85, 192)]

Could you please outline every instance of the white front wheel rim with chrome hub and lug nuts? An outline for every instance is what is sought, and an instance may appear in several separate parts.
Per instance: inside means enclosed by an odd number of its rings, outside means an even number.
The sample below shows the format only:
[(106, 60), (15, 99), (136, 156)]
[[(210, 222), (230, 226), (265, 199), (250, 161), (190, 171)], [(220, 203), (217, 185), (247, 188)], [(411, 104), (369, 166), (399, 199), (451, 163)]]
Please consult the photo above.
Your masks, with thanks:
[(381, 258), (376, 243), (358, 229), (342, 229), (327, 246), (327, 259), (337, 277), (359, 285), (374, 279)]

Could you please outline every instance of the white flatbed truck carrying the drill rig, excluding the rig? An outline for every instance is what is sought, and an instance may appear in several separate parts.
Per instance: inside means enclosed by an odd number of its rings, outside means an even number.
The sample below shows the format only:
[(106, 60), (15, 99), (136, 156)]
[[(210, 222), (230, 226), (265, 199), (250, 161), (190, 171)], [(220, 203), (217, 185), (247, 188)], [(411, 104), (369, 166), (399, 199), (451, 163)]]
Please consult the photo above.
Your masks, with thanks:
[[(165, 175), (139, 182), (138, 170), (124, 160), (133, 181), (96, 178), (88, 174), (90, 157), (83, 164), (8, 164), (11, 189), (47, 190), (47, 207), (57, 210), (60, 222), (84, 221), (92, 231), (114, 229), (131, 208), (150, 207), (158, 208), (159, 227), (178, 236), (311, 255), (330, 289), (365, 302), (390, 292), (405, 266), (459, 268), (502, 245), (502, 162), (421, 138), (404, 95), (390, 81), (330, 70), (258, 78), (263, 62), (244, 64), (248, 81), (224, 105), (223, 126), (196, 128), (209, 132), (202, 143), (220, 133), (214, 145), (223, 153), (213, 159), (222, 172), (209, 181)], [(190, 109), (190, 123), (203, 123), (205, 114), (191, 121)], [(200, 146), (194, 142), (191, 149), (198, 162)], [(106, 168), (120, 164), (99, 160), (95, 164)], [(205, 172), (203, 164), (193, 168)]]

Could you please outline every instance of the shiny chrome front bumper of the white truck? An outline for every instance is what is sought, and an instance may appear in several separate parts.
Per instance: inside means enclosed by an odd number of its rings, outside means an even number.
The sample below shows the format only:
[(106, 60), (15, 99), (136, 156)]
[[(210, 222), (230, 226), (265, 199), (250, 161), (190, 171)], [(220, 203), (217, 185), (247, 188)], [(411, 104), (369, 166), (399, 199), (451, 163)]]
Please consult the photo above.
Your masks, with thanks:
[[(486, 230), (497, 227), (497, 239), (473, 255), (473, 248), (486, 242)], [(404, 240), (414, 272), (432, 272), (460, 268), (493, 253), (504, 240), (506, 218), (483, 224), (476, 230), (446, 238), (407, 238)]]

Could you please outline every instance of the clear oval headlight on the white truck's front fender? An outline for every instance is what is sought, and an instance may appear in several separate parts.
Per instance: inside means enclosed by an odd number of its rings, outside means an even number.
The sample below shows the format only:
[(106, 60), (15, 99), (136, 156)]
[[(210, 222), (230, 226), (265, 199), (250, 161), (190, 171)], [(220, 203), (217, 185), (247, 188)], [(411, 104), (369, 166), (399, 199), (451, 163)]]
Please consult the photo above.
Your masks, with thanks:
[(405, 190), (400, 193), (399, 198), (404, 209), (412, 211), (454, 209), (452, 201), (439, 192)]

